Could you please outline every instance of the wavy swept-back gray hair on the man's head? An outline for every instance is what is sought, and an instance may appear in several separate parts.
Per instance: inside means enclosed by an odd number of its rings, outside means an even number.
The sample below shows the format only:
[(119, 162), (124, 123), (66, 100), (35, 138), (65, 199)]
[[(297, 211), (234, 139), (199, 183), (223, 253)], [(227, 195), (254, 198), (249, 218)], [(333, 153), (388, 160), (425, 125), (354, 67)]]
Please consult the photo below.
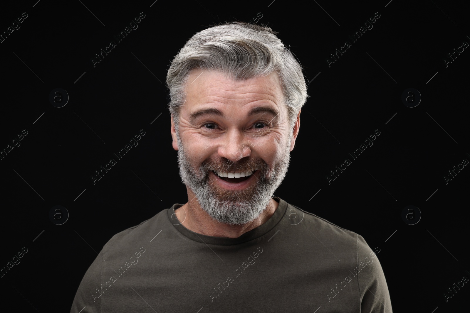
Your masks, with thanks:
[(266, 26), (244, 22), (225, 23), (199, 31), (174, 57), (166, 84), (169, 109), (178, 130), (185, 87), (194, 69), (216, 70), (235, 80), (266, 76), (276, 71), (281, 81), (290, 125), (308, 97), (302, 67), (294, 55)]

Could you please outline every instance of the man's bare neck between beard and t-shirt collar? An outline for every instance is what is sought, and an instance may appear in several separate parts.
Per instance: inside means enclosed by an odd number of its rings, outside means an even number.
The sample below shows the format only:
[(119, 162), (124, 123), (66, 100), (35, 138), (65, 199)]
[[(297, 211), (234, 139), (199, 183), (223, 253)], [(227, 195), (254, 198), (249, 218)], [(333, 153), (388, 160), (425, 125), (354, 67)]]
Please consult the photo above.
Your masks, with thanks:
[(273, 198), (263, 211), (255, 220), (243, 225), (228, 225), (213, 220), (200, 206), (196, 199), (196, 195), (188, 189), (189, 201), (175, 210), (175, 214), (181, 225), (195, 233), (213, 236), (213, 237), (228, 237), (238, 238), (244, 233), (255, 229), (264, 224), (276, 211), (279, 203)]

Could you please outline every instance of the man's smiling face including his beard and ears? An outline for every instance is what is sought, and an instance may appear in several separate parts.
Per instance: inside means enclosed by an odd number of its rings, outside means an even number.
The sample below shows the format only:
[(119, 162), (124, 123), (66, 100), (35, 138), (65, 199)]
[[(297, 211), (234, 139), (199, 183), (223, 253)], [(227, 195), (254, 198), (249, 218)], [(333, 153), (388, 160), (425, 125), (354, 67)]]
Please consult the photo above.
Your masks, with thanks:
[(291, 128), (277, 73), (234, 81), (193, 70), (179, 116), (173, 148), (201, 208), (226, 224), (256, 219), (287, 172), (299, 127), (297, 118)]

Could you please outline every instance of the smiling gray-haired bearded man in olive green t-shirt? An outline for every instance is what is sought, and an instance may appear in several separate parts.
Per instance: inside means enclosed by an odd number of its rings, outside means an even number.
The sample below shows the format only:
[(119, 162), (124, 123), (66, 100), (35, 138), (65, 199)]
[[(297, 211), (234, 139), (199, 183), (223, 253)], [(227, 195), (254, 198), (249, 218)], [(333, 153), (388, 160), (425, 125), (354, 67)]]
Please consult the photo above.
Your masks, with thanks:
[(167, 84), (188, 202), (112, 237), (71, 312), (391, 313), (364, 238), (274, 197), (307, 94), (271, 29), (195, 34)]

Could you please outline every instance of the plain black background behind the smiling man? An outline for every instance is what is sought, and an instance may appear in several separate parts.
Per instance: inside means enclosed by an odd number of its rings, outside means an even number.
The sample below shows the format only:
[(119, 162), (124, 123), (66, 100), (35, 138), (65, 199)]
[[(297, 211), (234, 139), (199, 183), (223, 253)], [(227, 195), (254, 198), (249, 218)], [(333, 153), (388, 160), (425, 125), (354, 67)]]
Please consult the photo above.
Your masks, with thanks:
[[(171, 146), (166, 70), (195, 32), (238, 20), (279, 32), (308, 84), (289, 172), (275, 195), (378, 247), (395, 312), (466, 306), (468, 284), (447, 302), (444, 293), (470, 277), (470, 169), (447, 184), (444, 176), (470, 160), (470, 52), (465, 49), (447, 67), (444, 59), (470, 43), (468, 5), (35, 3), (2, 4), (0, 11), (2, 33), (28, 14), (0, 43), (1, 151), (28, 131), (0, 160), (0, 267), (28, 249), (0, 278), (4, 305), (21, 312), (69, 312), (81, 278), (110, 237), (187, 201)], [(94, 67), (95, 53), (117, 41), (113, 36), (141, 12), (138, 28)], [(373, 28), (329, 65), (330, 53), (376, 12)], [(68, 92), (66, 106), (49, 102), (55, 88)], [(421, 93), (417, 107), (402, 102), (407, 88)], [(138, 146), (94, 184), (95, 171), (142, 129)], [(329, 172), (352, 159), (348, 153), (375, 130), (380, 136), (373, 146), (329, 184)], [(56, 205), (70, 213), (63, 225), (49, 220)], [(401, 218), (408, 205), (421, 211), (415, 225)]]

